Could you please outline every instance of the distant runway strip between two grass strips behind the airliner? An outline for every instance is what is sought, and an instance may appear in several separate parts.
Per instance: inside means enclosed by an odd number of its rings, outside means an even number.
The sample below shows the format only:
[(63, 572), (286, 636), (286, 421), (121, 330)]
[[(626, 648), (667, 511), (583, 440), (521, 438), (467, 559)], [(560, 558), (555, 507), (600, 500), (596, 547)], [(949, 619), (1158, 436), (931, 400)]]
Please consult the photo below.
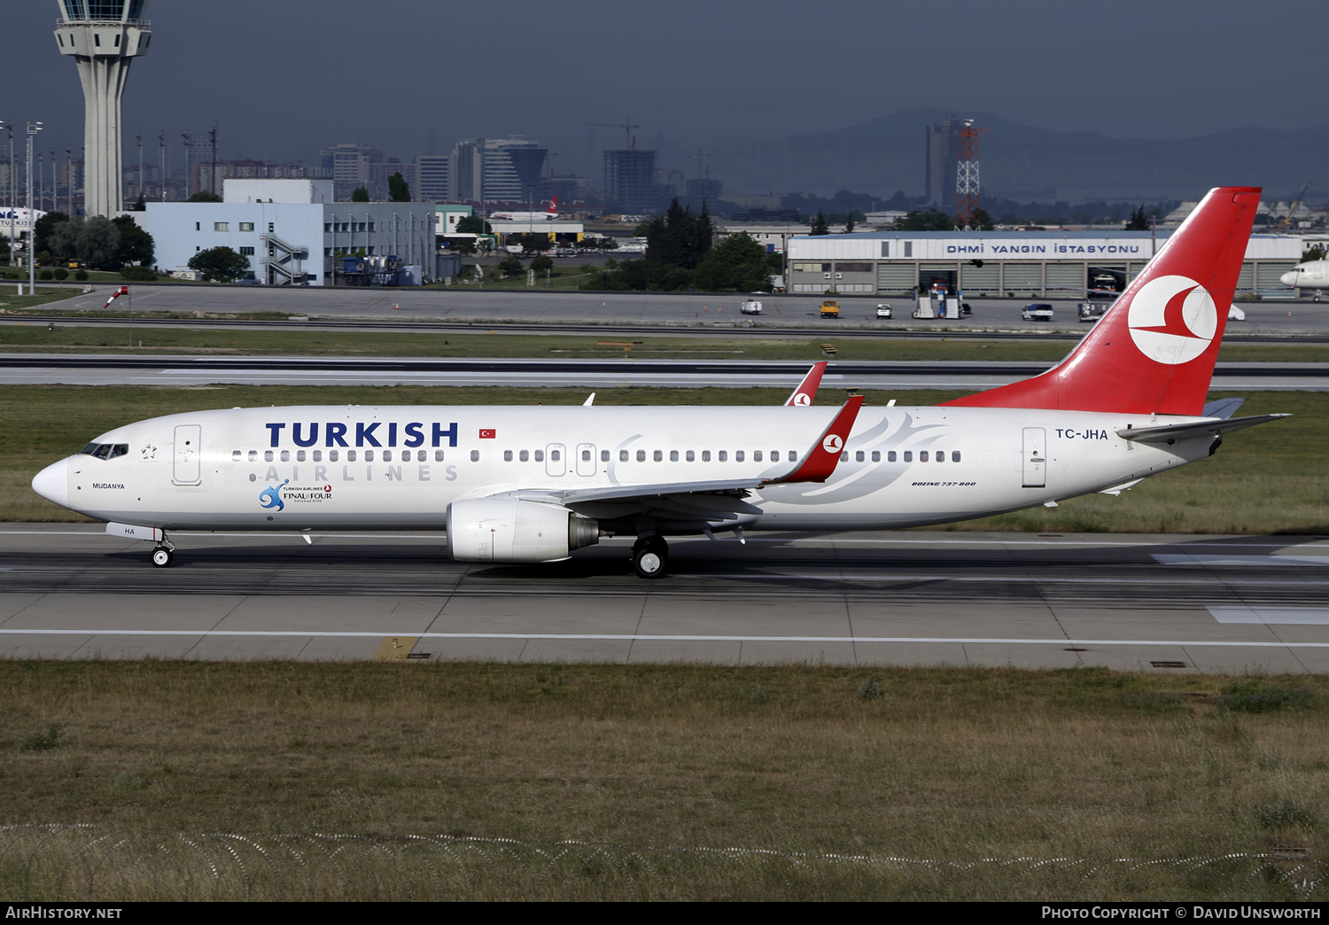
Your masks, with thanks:
[[(0, 354), (0, 384), (66, 385), (522, 385), (558, 388), (792, 388), (807, 361), (505, 360), (436, 358)], [(1047, 369), (1049, 363), (832, 361), (832, 389), (979, 391)], [(1325, 363), (1219, 363), (1215, 389), (1329, 389)]]

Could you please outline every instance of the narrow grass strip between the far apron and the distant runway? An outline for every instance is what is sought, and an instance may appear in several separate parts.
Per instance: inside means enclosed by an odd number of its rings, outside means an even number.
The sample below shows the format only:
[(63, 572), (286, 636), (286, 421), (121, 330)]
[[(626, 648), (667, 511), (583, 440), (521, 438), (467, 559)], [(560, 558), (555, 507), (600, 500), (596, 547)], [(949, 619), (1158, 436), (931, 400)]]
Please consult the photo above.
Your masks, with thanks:
[[(40, 298), (40, 296), (37, 296)], [(108, 312), (108, 315), (112, 315)], [(116, 315), (124, 318), (122, 315)], [(189, 318), (181, 314), (181, 318)], [(263, 316), (282, 318), (276, 312)], [(259, 315), (246, 318), (258, 319)], [(642, 336), (606, 330), (599, 335), (505, 334), (501, 326), (480, 334), (453, 332), (346, 332), (346, 331), (247, 331), (241, 328), (165, 328), (140, 326), (129, 346), (128, 323), (122, 327), (60, 324), (54, 331), (45, 323), (17, 322), (0, 326), (0, 351), (53, 352), (215, 352), (253, 355), (315, 356), (464, 356), (578, 359), (587, 356), (626, 359), (735, 359), (735, 360), (922, 360), (922, 361), (1039, 361), (1055, 363), (1074, 344), (1038, 340), (950, 340), (930, 339), (777, 338), (723, 336)], [(138, 344), (142, 344), (140, 347)], [(630, 350), (625, 350), (623, 346)], [(821, 346), (836, 348), (833, 358)], [(1329, 363), (1329, 344), (1248, 344), (1228, 343), (1219, 354), (1227, 361)]]

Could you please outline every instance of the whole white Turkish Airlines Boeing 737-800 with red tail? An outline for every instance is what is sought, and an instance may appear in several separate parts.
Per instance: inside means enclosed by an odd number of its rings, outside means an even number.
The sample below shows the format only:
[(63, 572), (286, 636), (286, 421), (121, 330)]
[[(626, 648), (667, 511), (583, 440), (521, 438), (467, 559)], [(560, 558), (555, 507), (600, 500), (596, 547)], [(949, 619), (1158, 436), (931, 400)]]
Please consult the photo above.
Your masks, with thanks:
[(153, 541), (171, 530), (445, 528), (452, 557), (549, 562), (637, 537), (897, 529), (1119, 492), (1273, 420), (1205, 408), (1253, 187), (1212, 190), (1047, 372), (938, 407), (233, 408), (120, 427), (33, 478), (56, 504)]

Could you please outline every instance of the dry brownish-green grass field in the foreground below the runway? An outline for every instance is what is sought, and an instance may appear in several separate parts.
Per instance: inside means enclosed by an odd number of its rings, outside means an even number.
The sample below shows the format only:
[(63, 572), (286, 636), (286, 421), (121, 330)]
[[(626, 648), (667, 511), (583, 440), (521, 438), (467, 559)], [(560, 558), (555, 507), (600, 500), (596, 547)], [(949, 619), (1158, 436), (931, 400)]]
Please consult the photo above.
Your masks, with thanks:
[[(1326, 896), (1324, 678), (1235, 714), (1204, 675), (876, 668), (865, 699), (867, 674), (0, 662), (0, 823), (90, 827), (0, 829), (0, 894)], [(1289, 848), (1321, 865), (1309, 892), (1275, 860), (1138, 863)]]

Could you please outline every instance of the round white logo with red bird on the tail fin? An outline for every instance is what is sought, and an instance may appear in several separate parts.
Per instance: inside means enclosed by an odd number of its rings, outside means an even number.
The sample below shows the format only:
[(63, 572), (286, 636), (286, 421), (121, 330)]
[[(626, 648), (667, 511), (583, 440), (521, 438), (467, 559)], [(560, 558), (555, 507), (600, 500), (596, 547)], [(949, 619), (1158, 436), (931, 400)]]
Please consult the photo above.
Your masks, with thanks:
[(1219, 330), (1213, 298), (1187, 276), (1159, 276), (1131, 300), (1131, 339), (1155, 363), (1176, 365), (1200, 356)]

